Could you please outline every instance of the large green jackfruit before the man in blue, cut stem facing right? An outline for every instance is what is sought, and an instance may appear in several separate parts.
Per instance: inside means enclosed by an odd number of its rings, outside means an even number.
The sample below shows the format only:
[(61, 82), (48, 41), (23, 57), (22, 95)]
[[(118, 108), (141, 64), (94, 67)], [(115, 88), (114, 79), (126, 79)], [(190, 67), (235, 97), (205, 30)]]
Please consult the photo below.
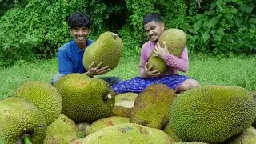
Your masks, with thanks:
[(74, 73), (60, 78), (54, 86), (62, 95), (62, 114), (76, 123), (106, 118), (114, 106), (115, 93), (102, 79)]

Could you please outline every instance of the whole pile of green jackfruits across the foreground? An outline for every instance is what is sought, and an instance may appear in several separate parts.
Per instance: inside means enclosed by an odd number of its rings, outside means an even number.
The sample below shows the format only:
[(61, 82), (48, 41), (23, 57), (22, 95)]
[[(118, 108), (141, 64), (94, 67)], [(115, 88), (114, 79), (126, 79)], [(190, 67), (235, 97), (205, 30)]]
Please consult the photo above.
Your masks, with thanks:
[(26, 82), (0, 101), (2, 143), (256, 143), (254, 96), (238, 86), (115, 94), (85, 74)]

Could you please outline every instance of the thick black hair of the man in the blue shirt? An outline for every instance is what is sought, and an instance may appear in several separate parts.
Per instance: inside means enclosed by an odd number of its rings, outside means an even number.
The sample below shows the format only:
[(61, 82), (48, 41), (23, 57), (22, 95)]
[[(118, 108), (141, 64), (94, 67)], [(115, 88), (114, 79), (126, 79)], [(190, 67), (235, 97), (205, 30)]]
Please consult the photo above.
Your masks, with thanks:
[(87, 14), (82, 12), (75, 12), (74, 14), (70, 15), (67, 23), (70, 26), (70, 29), (73, 29), (74, 27), (90, 28), (90, 18)]

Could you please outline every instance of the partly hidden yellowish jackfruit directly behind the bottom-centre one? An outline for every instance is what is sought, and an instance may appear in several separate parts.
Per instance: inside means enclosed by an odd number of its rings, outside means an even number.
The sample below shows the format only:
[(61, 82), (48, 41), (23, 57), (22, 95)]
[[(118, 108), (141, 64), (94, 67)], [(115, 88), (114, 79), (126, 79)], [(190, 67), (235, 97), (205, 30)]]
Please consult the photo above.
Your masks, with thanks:
[(130, 118), (113, 116), (109, 118), (98, 119), (90, 125), (88, 130), (86, 130), (86, 135), (92, 134), (95, 131), (101, 130), (105, 127), (116, 126), (122, 123), (130, 123)]

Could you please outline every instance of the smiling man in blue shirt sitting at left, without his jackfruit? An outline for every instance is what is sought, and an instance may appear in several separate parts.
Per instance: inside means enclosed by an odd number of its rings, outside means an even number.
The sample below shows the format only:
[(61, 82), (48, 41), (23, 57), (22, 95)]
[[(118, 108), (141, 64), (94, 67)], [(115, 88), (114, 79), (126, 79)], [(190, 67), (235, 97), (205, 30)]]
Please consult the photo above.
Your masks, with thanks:
[[(82, 58), (86, 47), (93, 41), (88, 39), (90, 34), (90, 18), (86, 14), (81, 12), (74, 13), (68, 19), (68, 25), (70, 26), (70, 33), (73, 35), (74, 40), (67, 42), (58, 50), (58, 72), (51, 80), (54, 84), (59, 78), (66, 74), (80, 73), (86, 74), (93, 78), (94, 75), (106, 74), (110, 69), (109, 66), (99, 68), (102, 62), (98, 66), (94, 66), (94, 62), (89, 66), (89, 70), (84, 69), (82, 64)], [(119, 77), (102, 77), (101, 79), (108, 82), (110, 85), (121, 82)]]

